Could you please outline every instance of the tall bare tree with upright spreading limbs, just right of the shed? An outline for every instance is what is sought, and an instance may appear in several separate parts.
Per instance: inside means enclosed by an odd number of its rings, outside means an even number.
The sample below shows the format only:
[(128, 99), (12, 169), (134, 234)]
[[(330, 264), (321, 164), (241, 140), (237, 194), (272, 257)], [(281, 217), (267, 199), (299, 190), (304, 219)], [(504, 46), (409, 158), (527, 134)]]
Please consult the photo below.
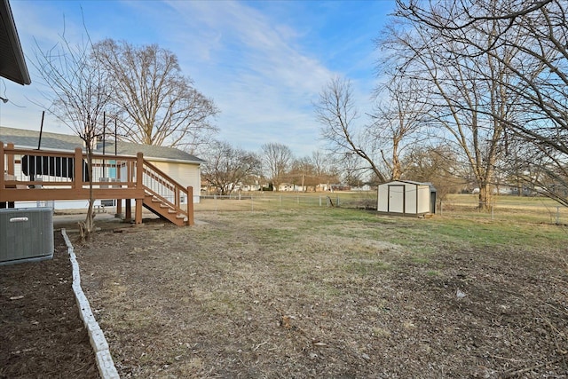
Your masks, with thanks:
[[(445, 19), (461, 17), (452, 6), (432, 6), (430, 12)], [(488, 21), (483, 31), (469, 28), (469, 39), (493, 46), (500, 22)], [(396, 69), (430, 84), (424, 99), (432, 106), (432, 122), (445, 130), (436, 137), (459, 146), (479, 187), (478, 206), (486, 209), (495, 167), (503, 154), (501, 138), (524, 107), (517, 93), (508, 91), (517, 82), (510, 67), (518, 64), (522, 51), (517, 46), (501, 45), (501, 59), (494, 59), (473, 53), (468, 43), (446, 36), (428, 23), (410, 19), (406, 27), (402, 32), (391, 29), (391, 39), (386, 43), (398, 56)], [(539, 71), (533, 75), (539, 75)]]

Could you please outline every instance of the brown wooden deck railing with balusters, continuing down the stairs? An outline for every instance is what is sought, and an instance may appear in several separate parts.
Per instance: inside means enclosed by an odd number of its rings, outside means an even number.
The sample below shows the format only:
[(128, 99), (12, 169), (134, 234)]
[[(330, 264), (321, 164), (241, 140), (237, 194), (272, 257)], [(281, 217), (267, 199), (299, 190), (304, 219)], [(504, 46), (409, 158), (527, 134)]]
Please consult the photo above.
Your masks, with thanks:
[[(14, 148), (0, 141), (0, 204), (14, 201), (55, 201), (90, 199), (87, 155), (81, 148), (75, 153)], [(139, 170), (141, 169), (141, 170)], [(136, 157), (93, 154), (91, 181), (95, 199), (116, 199), (117, 213), (123, 199), (136, 200), (136, 222), (142, 219), (142, 203), (146, 193), (168, 201), (189, 221), (193, 221), (191, 188), (177, 182), (146, 162), (141, 153)], [(185, 199), (182, 199), (184, 198)], [(186, 209), (182, 200), (187, 202)], [(126, 201), (130, 217), (130, 201)], [(190, 206), (191, 204), (191, 206)]]

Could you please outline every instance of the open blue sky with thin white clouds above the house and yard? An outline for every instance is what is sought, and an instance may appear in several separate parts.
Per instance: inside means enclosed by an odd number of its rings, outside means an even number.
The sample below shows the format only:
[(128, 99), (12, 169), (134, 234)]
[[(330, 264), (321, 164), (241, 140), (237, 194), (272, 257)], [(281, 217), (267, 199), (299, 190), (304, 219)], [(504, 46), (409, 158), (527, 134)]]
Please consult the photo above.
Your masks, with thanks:
[[(0, 78), (0, 125), (39, 130), (49, 107), (33, 65), (65, 33), (157, 43), (177, 55), (184, 75), (220, 110), (216, 138), (251, 152), (266, 143), (296, 157), (323, 149), (313, 102), (335, 76), (351, 81), (359, 112), (372, 108), (378, 83), (375, 38), (394, 9), (378, 1), (48, 1), (11, 0), (32, 84)], [(86, 31), (85, 31), (86, 29)], [(47, 114), (43, 130), (73, 133)], [(1, 140), (1, 136), (0, 136)]]

